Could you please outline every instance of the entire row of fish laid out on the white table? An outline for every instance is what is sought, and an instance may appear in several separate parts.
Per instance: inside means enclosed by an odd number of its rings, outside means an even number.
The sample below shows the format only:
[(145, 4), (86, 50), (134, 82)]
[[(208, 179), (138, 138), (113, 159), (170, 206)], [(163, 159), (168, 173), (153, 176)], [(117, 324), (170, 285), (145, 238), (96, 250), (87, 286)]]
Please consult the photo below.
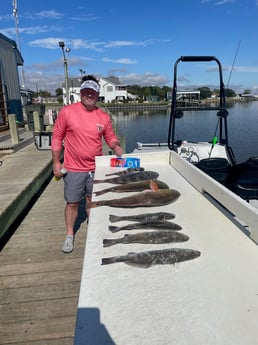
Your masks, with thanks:
[[(108, 178), (104, 180), (95, 180), (95, 183), (113, 183), (118, 186), (112, 186), (101, 191), (95, 192), (96, 196), (108, 192), (139, 192), (129, 197), (112, 200), (100, 200), (91, 202), (89, 207), (110, 206), (118, 208), (134, 208), (134, 207), (152, 207), (163, 206), (175, 202), (180, 193), (175, 189), (157, 180), (159, 174), (153, 171), (144, 171), (144, 169), (127, 169), (117, 173), (107, 175), (118, 175), (118, 177)], [(144, 213), (131, 216), (110, 215), (111, 223), (118, 221), (133, 221), (136, 223), (124, 226), (109, 226), (108, 229), (112, 233), (123, 230), (139, 230), (146, 229), (152, 231), (144, 231), (137, 234), (125, 234), (120, 238), (103, 239), (103, 246), (110, 247), (115, 244), (165, 244), (180, 243), (189, 240), (189, 236), (178, 232), (182, 229), (179, 224), (168, 221), (174, 219), (175, 215), (168, 212)], [(153, 231), (155, 230), (155, 231)], [(175, 264), (176, 262), (194, 259), (200, 256), (200, 252), (192, 249), (172, 248), (155, 251), (144, 251), (140, 253), (128, 253), (127, 255), (103, 258), (102, 265), (116, 262), (124, 262), (142, 268), (148, 268), (153, 265)]]

